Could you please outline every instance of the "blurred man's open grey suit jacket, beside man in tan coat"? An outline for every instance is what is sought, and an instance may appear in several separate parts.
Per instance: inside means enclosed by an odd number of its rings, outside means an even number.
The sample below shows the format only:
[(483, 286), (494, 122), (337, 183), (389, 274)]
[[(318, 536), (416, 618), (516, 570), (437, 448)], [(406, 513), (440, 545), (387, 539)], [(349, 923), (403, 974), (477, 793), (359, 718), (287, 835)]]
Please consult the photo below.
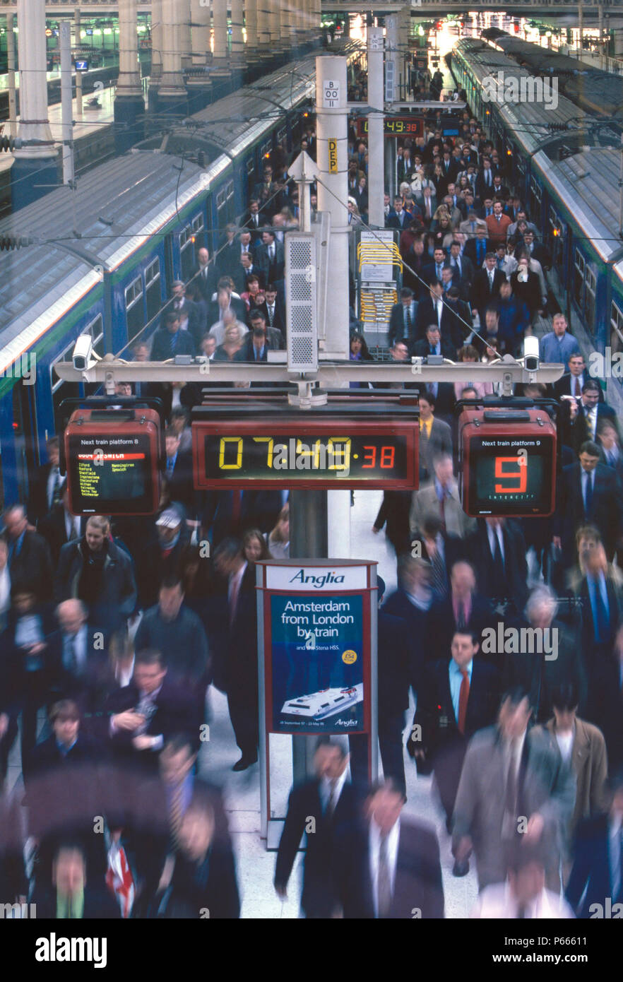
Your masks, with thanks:
[[(521, 773), (525, 767), (523, 780)], [(562, 761), (555, 738), (542, 727), (526, 734), (520, 767), (518, 819), (539, 812), (545, 820), (542, 846), (548, 867), (558, 868), (560, 845), (575, 806), (576, 779)], [(467, 747), (454, 805), (452, 844), (463, 836), (474, 844), (479, 888), (506, 878), (507, 843), (502, 840), (506, 768), (495, 727), (475, 734)]]

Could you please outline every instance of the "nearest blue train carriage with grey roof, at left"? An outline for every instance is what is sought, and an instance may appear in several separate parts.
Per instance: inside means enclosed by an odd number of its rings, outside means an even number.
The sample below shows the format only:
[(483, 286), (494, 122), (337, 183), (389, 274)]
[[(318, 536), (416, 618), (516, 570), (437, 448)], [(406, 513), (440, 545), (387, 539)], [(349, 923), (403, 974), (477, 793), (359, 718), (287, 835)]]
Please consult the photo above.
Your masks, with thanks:
[[(193, 222), (205, 224), (218, 171), (186, 161), (180, 173), (181, 163), (140, 153), (111, 160), (84, 175), (74, 195), (51, 191), (0, 223), (0, 235), (43, 242), (0, 253), (4, 501), (26, 500), (55, 431), (55, 409), (66, 396), (83, 394), (54, 373), (55, 363), (71, 360), (78, 335), (89, 333), (102, 356), (157, 326), (192, 245), (184, 235)], [(16, 378), (33, 355), (36, 384)]]

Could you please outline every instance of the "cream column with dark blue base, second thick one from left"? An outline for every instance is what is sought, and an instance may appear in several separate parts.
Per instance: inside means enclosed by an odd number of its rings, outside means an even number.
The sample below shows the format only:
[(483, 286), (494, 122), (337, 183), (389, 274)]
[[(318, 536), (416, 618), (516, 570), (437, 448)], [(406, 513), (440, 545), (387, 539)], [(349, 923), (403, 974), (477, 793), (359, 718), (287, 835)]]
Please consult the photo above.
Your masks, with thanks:
[(117, 153), (126, 153), (144, 136), (145, 103), (140, 86), (136, 27), (136, 0), (119, 0), (119, 79), (115, 95)]

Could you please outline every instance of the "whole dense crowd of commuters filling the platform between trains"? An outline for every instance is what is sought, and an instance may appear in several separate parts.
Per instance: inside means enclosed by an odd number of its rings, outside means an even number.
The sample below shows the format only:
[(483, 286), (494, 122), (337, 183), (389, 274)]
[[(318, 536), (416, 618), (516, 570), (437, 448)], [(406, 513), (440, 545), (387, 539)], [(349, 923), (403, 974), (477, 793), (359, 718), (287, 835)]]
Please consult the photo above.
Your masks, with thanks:
[[(351, 85), (363, 97), (365, 78)], [(315, 155), (313, 126), (301, 147)], [(200, 352), (265, 361), (284, 347), (283, 237), (298, 216), (289, 159), (273, 152), (216, 256), (198, 249), (190, 282), (173, 285), (161, 326), (135, 346), (137, 361)], [(366, 144), (351, 129), (351, 225), (367, 213), (366, 179)], [(473, 916), (591, 916), (592, 904), (623, 890), (618, 421), (554, 309), (538, 230), (477, 122), (466, 114), (455, 139), (433, 129), (405, 140), (398, 179), (385, 205), (405, 262), (391, 357), (516, 355), (552, 312), (542, 357), (568, 368), (550, 393), (560, 399), (563, 442), (556, 512), (468, 518), (453, 409), (495, 387), (419, 392), (420, 489), (386, 493), (373, 527), (386, 529), (398, 581), (387, 599), (382, 582), (379, 590), (384, 781), (367, 787), (366, 736), (351, 736), (348, 750), (321, 740), (313, 777), (289, 798), (275, 889), (286, 897), (307, 834), (308, 917), (443, 916), (441, 847), (451, 849), (455, 876), (475, 863)], [(350, 357), (372, 358), (359, 331)], [(72, 516), (58, 438), (27, 501), (4, 511), (0, 781), (20, 734), (24, 789), (1, 799), (0, 894), (29, 897), (51, 917), (237, 917), (224, 800), (198, 776), (197, 755), (214, 685), (227, 693), (234, 771), (257, 761), (254, 566), (288, 556), (287, 492), (198, 494), (188, 408), (201, 392), (142, 382), (118, 392), (165, 398), (156, 517)], [(502, 647), (485, 643), (500, 625)], [(508, 629), (534, 643), (505, 645)], [(410, 766), (434, 776), (445, 846), (403, 813), (405, 744)]]

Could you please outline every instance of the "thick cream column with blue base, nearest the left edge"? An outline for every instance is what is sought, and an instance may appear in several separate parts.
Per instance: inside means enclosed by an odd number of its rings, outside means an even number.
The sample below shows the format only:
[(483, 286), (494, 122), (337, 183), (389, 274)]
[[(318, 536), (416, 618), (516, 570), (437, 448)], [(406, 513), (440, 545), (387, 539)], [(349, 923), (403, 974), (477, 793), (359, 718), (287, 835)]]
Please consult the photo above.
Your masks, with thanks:
[(48, 121), (45, 0), (18, 0), (20, 125), (18, 136), (36, 140), (16, 150), (11, 168), (14, 211), (58, 184), (58, 150)]

